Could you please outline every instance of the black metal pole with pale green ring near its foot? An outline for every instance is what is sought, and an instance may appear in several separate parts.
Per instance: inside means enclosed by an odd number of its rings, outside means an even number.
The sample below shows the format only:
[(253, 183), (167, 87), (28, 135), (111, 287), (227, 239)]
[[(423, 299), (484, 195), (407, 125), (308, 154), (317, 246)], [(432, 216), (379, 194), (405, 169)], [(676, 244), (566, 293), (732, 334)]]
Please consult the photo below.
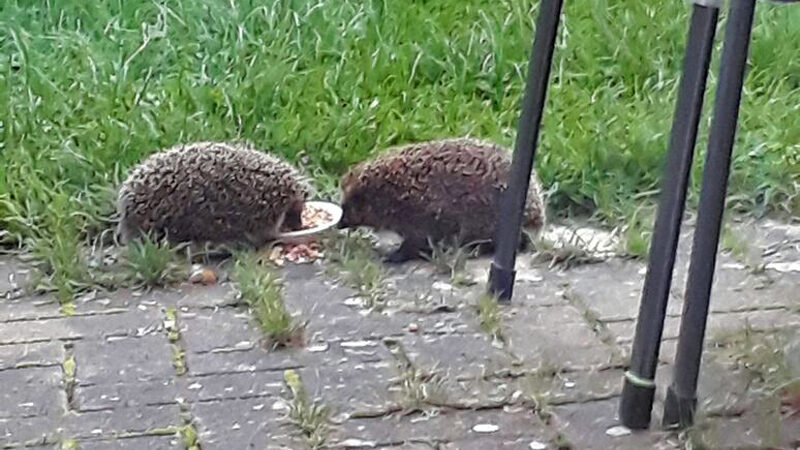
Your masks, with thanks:
[(622, 389), (619, 416), (629, 428), (650, 424), (658, 353), (718, 16), (717, 6), (695, 4), (692, 9), (631, 367)]

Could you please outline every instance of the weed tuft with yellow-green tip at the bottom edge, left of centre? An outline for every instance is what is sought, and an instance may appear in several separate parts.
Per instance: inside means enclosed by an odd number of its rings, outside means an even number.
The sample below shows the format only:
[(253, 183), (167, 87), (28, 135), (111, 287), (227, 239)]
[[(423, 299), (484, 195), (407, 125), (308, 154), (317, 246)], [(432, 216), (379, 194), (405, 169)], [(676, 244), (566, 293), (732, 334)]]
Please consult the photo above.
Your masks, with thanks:
[(294, 370), (286, 370), (283, 379), (290, 394), (289, 419), (300, 429), (309, 448), (323, 448), (328, 438), (330, 410), (308, 398), (303, 381)]

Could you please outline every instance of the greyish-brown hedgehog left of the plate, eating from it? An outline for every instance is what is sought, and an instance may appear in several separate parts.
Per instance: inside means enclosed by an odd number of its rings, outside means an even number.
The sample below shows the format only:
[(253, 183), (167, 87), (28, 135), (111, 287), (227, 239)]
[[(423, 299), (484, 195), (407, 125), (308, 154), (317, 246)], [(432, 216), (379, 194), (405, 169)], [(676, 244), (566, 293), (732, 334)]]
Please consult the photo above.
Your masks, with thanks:
[(198, 142), (151, 155), (119, 190), (118, 233), (171, 242), (249, 244), (298, 229), (308, 186), (275, 156), (248, 145)]

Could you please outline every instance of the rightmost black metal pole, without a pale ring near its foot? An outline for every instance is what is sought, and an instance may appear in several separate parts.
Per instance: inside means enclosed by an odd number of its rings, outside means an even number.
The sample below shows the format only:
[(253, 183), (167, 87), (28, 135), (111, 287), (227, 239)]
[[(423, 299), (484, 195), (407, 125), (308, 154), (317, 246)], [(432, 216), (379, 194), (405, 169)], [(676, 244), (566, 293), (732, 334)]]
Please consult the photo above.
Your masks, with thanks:
[(719, 233), (725, 210), (731, 152), (739, 118), (750, 32), (756, 0), (732, 0), (720, 60), (714, 118), (708, 138), (697, 229), (689, 262), (674, 381), (664, 404), (665, 426), (689, 426), (694, 421), (697, 376), (703, 353), (711, 285)]

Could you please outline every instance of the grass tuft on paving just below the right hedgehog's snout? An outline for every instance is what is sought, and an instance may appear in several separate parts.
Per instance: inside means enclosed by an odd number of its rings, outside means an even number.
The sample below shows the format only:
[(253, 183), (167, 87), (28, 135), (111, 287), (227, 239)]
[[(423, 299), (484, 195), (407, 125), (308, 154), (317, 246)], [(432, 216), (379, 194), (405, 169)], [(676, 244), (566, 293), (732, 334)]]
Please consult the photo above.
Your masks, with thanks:
[(357, 232), (348, 232), (344, 237), (328, 237), (325, 248), (330, 263), (326, 274), (354, 289), (366, 308), (383, 307), (387, 296), (386, 274), (375, 259), (370, 240)]

